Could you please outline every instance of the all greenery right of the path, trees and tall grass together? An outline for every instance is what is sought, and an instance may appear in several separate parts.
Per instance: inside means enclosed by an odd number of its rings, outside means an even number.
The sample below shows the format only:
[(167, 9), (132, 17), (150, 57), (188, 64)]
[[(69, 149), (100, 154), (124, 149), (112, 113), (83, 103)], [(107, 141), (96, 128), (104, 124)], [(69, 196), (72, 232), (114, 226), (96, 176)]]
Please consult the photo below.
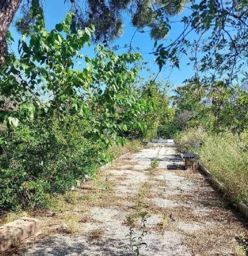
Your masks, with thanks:
[(175, 142), (180, 152), (194, 152), (229, 191), (230, 199), (248, 201), (248, 93), (216, 81), (191, 81), (174, 96)]

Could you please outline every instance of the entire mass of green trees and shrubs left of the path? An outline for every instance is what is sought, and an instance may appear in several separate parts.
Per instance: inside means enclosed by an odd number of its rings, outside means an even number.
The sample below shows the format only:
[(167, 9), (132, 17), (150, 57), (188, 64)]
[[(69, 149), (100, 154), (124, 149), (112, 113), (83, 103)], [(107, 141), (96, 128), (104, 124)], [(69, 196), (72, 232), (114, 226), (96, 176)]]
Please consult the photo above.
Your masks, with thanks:
[(75, 29), (69, 13), (49, 32), (36, 17), (19, 41), (20, 57), (9, 53), (0, 71), (1, 210), (48, 207), (51, 194), (94, 176), (126, 139), (153, 136), (148, 131), (169, 111), (156, 83), (136, 85), (138, 53), (98, 46), (89, 58), (80, 51), (93, 26)]

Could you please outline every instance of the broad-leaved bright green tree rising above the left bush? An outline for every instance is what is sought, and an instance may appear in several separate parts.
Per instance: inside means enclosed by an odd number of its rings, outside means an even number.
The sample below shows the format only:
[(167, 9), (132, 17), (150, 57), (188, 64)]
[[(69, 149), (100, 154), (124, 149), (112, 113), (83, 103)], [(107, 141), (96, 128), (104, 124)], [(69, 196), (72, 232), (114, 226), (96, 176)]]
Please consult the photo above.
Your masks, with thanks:
[[(48, 32), (43, 16), (34, 25), (30, 40), (24, 33), (19, 41), (21, 57), (9, 54), (1, 69), (2, 97), (14, 105), (1, 111), (2, 121), (17, 126), (18, 120), (32, 119), (36, 109), (44, 115), (57, 115), (63, 120), (68, 107), (82, 114), (92, 111), (92, 134), (99, 138), (118, 139), (121, 131), (139, 127), (136, 117), (149, 109), (144, 100), (134, 97), (133, 82), (138, 75), (138, 53), (115, 55), (103, 46), (95, 49), (95, 57), (80, 54), (90, 44), (94, 27), (75, 29), (74, 13)], [(74, 68), (83, 61), (82, 70)], [(129, 67), (130, 66), (130, 67)], [(119, 138), (120, 139), (120, 138)]]

